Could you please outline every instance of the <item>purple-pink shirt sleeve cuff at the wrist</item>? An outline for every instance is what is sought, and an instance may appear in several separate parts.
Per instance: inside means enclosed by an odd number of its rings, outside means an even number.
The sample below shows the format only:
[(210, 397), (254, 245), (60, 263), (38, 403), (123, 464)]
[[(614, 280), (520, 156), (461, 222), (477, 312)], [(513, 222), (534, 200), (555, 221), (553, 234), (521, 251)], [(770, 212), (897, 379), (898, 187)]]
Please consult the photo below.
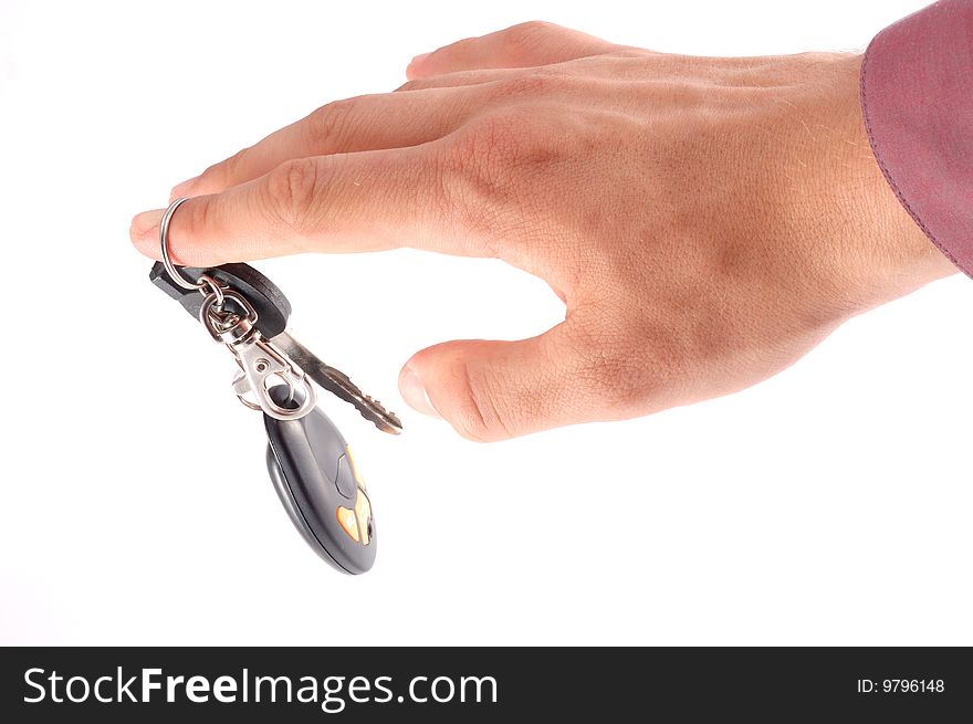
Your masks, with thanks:
[(941, 0), (879, 33), (861, 107), (902, 206), (973, 276), (973, 0)]

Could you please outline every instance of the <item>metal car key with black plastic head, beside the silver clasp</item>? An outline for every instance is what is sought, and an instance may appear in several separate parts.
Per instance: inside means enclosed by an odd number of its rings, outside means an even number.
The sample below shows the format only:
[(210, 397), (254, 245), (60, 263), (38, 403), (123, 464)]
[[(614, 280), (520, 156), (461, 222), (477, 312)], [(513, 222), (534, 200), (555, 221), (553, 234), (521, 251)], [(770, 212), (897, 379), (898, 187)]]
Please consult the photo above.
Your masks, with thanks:
[[(291, 315), (291, 304), (287, 297), (253, 266), (236, 263), (209, 269), (189, 266), (181, 269), (190, 279), (206, 275), (216, 280), (220, 285), (242, 294), (255, 311), (255, 326), (264, 339), (281, 349), (322, 389), (354, 405), (362, 417), (383, 432), (398, 434), (402, 431), (402, 423), (395, 413), (386, 410), (378, 400), (365, 395), (347, 375), (326, 365), (286, 332)], [(189, 314), (199, 318), (202, 295), (196, 290), (187, 290), (174, 283), (161, 262), (156, 262), (153, 265), (149, 281), (178, 301)], [(244, 311), (238, 308), (236, 304), (231, 304), (231, 306), (233, 306), (234, 313), (243, 314)], [(233, 387), (240, 396), (242, 388), (239, 377), (234, 379)], [(241, 399), (243, 398), (241, 397)]]

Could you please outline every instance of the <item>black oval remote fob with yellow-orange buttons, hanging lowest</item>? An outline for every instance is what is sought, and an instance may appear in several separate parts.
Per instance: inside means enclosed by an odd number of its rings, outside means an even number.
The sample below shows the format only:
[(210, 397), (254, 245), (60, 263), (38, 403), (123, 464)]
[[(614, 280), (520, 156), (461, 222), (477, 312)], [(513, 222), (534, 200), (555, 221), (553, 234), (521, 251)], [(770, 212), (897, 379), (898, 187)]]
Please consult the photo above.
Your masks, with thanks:
[[(286, 405), (287, 388), (270, 390)], [(344, 437), (314, 408), (296, 420), (263, 416), (266, 466), (278, 495), (307, 544), (332, 566), (364, 574), (375, 563), (375, 522), (365, 483)]]

